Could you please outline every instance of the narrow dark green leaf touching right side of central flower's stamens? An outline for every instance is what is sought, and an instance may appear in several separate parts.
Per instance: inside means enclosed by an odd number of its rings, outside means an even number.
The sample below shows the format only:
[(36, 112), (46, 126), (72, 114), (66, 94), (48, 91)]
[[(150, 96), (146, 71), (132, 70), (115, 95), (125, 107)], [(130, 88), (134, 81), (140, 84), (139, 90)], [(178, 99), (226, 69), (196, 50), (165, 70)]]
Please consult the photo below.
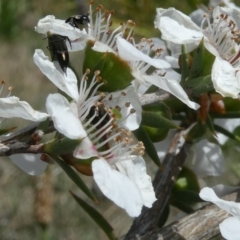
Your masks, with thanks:
[(153, 162), (160, 167), (161, 163), (156, 151), (156, 148), (153, 145), (152, 140), (148, 136), (147, 132), (142, 126), (139, 126), (139, 128), (135, 131), (133, 131), (133, 134), (136, 136), (136, 138), (139, 141), (142, 141), (144, 143), (144, 146), (146, 148), (146, 153), (149, 155), (149, 157), (153, 160)]

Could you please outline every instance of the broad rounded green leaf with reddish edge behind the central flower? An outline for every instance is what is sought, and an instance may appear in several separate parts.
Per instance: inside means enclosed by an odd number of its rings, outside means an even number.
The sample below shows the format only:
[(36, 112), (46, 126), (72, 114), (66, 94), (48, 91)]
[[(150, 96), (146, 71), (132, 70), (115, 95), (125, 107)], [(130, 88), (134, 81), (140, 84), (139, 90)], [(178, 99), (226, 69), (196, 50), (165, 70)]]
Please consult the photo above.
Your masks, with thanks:
[(131, 75), (128, 63), (114, 53), (92, 50), (93, 45), (93, 41), (87, 42), (83, 63), (83, 72), (86, 69), (91, 70), (88, 75), (89, 82), (93, 78), (94, 72), (98, 70), (105, 83), (99, 88), (100, 91), (113, 92), (129, 86), (134, 77)]

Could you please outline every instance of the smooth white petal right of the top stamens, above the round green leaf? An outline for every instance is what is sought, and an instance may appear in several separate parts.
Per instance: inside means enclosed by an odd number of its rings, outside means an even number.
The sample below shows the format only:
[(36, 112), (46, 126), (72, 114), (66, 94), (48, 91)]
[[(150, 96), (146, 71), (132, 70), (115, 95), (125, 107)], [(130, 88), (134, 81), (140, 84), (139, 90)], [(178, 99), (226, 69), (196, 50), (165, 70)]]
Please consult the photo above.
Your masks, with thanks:
[(117, 38), (117, 48), (119, 56), (126, 61), (144, 61), (156, 68), (171, 67), (167, 61), (149, 57), (121, 37)]

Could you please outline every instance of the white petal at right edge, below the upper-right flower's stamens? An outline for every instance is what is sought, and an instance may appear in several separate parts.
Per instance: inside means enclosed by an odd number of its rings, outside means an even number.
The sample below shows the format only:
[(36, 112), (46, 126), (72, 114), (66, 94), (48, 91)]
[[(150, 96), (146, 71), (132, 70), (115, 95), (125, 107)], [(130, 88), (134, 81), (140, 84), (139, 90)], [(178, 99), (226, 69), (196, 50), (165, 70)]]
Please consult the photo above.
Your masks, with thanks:
[(223, 97), (239, 97), (240, 72), (229, 62), (216, 57), (212, 67), (212, 81), (215, 90)]

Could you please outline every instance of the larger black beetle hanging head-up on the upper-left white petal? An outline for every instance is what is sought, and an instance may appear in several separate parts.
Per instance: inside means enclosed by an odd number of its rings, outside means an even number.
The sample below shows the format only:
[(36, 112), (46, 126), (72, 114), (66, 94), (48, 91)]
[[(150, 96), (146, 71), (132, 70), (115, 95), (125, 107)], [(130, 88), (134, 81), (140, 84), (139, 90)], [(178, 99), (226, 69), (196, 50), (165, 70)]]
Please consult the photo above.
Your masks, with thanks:
[(59, 34), (52, 34), (48, 37), (48, 40), (49, 46), (47, 46), (47, 48), (52, 51), (52, 61), (56, 57), (56, 60), (58, 61), (61, 69), (66, 74), (67, 66), (69, 63), (69, 54), (66, 41), (69, 42), (70, 47), (72, 48), (69, 38), (66, 36), (61, 36)]

